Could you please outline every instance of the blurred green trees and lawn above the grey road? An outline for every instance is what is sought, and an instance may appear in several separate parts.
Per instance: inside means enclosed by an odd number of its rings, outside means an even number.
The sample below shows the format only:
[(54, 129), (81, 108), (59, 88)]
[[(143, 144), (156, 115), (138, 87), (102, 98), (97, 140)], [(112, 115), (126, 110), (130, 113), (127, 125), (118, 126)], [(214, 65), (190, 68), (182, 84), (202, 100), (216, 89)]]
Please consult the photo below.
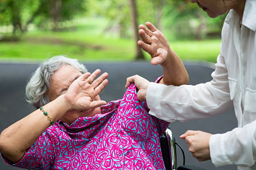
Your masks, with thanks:
[[(137, 0), (137, 12), (137, 21), (155, 24), (181, 58), (216, 60), (225, 16), (209, 18), (188, 0)], [(132, 60), (133, 35), (128, 0), (0, 0), (1, 58)], [(191, 49), (190, 41), (200, 49)], [(199, 54), (209, 48), (211, 54)]]

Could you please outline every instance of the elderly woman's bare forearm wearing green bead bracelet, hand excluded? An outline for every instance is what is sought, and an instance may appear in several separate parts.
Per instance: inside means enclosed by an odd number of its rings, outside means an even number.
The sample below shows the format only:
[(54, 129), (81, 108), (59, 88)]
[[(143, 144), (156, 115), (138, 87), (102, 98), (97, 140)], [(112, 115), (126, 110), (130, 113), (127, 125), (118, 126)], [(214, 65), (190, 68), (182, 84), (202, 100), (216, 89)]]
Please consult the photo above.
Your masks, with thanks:
[[(59, 120), (65, 112), (68, 111), (68, 105), (63, 96), (56, 100), (47, 103), (43, 106), (45, 111), (51, 117), (51, 120)], [(42, 135), (42, 132), (50, 126), (50, 121), (42, 111), (37, 109), (30, 113), (22, 120), (19, 120), (13, 125), (5, 129), (0, 136), (0, 151), (7, 159), (12, 162), (18, 162), (22, 159), (24, 153), (37, 138)]]

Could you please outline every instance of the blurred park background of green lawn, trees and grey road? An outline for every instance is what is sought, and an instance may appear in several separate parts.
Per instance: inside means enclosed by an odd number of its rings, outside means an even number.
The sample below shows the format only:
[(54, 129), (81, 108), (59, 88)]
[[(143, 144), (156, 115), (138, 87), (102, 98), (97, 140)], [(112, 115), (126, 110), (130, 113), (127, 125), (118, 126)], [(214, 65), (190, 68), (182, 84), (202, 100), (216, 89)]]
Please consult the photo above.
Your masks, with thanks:
[[(108, 72), (109, 84), (102, 92), (106, 101), (122, 98), (127, 76), (154, 81), (162, 68), (151, 66), (151, 57), (137, 47), (138, 25), (146, 21), (165, 34), (184, 61), (190, 84), (210, 81), (225, 17), (209, 18), (189, 0), (0, 0), (0, 132), (32, 112), (24, 86), (39, 62), (53, 55), (78, 58), (90, 71)], [(185, 150), (186, 163), (215, 169), (210, 160), (194, 159), (179, 135), (188, 129), (223, 133), (236, 124), (231, 109), (170, 127)], [(181, 157), (179, 152), (179, 165)], [(0, 159), (0, 169), (16, 168)]]

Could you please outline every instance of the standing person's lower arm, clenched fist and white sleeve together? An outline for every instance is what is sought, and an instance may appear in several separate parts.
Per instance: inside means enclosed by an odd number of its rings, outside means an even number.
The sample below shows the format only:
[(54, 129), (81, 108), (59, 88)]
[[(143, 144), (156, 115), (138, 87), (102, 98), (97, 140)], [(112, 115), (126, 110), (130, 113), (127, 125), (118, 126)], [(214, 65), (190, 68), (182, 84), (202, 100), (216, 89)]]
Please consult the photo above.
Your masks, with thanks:
[(214, 166), (253, 166), (256, 157), (256, 120), (230, 132), (211, 135), (201, 131), (187, 131), (180, 136), (197, 160), (210, 160)]

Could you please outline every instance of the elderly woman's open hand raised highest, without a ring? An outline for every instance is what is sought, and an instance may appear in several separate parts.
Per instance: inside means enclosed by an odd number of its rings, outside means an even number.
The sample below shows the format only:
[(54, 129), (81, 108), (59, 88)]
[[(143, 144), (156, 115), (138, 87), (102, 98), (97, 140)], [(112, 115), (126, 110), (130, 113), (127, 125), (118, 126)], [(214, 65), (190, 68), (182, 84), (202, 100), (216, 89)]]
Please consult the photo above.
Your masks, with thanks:
[(171, 51), (168, 41), (163, 33), (157, 30), (153, 24), (146, 22), (145, 25), (148, 29), (142, 24), (139, 26), (139, 33), (142, 40), (138, 41), (138, 45), (151, 55), (151, 64), (163, 65), (168, 61), (168, 56)]

